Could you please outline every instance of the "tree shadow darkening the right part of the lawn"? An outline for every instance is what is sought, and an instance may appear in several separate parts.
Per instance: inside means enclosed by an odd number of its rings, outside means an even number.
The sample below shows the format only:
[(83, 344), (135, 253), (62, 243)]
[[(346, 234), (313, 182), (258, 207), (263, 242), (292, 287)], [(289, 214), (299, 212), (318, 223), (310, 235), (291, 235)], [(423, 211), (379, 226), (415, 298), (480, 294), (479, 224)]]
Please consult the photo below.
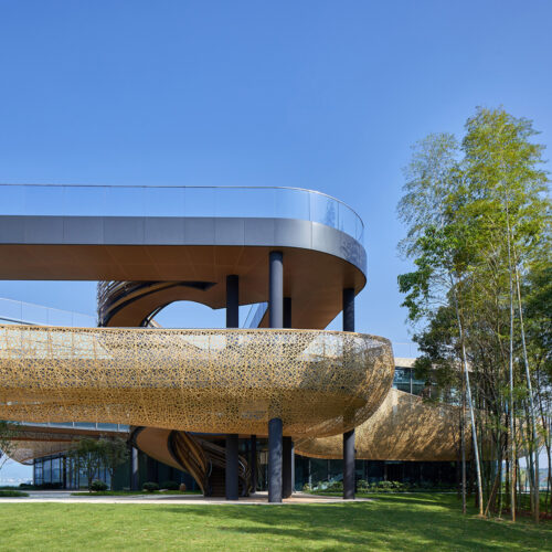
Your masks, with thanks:
[[(420, 509), (422, 506), (422, 509)], [(429, 508), (426, 508), (429, 506)], [(433, 508), (432, 508), (433, 506)], [(159, 507), (158, 507), (159, 508)], [(215, 509), (214, 509), (215, 508)], [(463, 517), (448, 500), (385, 497), (379, 503), (161, 507), (180, 516), (210, 518), (235, 535), (273, 535), (284, 545), (302, 542), (325, 550), (364, 546), (373, 550), (546, 550), (552, 524), (535, 528)], [(550, 550), (550, 549), (549, 549)]]

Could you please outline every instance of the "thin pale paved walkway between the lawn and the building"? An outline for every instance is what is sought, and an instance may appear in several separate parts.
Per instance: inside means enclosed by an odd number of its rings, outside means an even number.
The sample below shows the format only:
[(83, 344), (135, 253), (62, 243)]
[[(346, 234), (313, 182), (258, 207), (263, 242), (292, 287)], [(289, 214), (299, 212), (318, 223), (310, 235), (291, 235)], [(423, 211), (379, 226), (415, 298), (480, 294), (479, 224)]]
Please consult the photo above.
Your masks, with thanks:
[[(171, 505), (270, 505), (268, 502), (267, 492), (256, 492), (247, 498), (240, 500), (225, 500), (221, 497), (205, 498), (202, 495), (123, 495), (119, 497), (105, 496), (71, 496), (74, 491), (66, 490), (43, 490), (43, 491), (26, 491), (29, 497), (21, 498), (0, 498), (0, 505), (3, 503), (29, 503), (29, 502), (75, 502), (75, 503), (100, 503), (100, 505), (155, 505), (155, 503), (171, 503)], [(369, 502), (371, 499), (359, 498), (355, 502)], [(321, 505), (344, 502), (340, 497), (320, 497), (315, 495), (306, 495), (304, 492), (295, 492), (290, 498), (284, 500), (284, 505)], [(349, 502), (349, 500), (347, 500)]]

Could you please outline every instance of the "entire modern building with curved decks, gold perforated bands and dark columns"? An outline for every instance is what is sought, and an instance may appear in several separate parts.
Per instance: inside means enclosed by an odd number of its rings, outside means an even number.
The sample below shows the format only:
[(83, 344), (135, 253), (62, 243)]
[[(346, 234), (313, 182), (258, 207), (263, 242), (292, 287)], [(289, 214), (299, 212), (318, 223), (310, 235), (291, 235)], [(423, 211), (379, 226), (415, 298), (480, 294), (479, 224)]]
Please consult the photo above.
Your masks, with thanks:
[[(422, 402), (389, 340), (354, 331), (367, 254), (344, 203), (288, 188), (0, 198), (0, 278), (99, 282), (97, 328), (0, 327), (0, 418), (20, 423), (35, 481), (82, 485), (71, 438), (110, 431), (132, 450), (119, 486), (187, 478), (229, 499), (267, 487), (279, 502), (322, 476), (352, 498), (355, 478), (392, 479), (394, 463), (457, 459), (454, 408)], [(224, 308), (226, 328), (160, 328), (179, 300)], [(327, 331), (341, 311), (342, 331)]]

